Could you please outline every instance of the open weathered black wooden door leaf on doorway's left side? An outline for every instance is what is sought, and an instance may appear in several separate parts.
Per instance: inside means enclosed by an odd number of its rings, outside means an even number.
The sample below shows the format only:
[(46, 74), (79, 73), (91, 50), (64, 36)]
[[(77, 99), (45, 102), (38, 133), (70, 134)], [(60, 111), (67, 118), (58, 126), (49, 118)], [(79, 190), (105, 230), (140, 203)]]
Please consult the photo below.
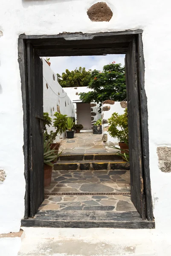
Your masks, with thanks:
[(44, 200), (43, 166), (43, 64), (32, 44), (26, 43), (29, 109), (29, 216)]

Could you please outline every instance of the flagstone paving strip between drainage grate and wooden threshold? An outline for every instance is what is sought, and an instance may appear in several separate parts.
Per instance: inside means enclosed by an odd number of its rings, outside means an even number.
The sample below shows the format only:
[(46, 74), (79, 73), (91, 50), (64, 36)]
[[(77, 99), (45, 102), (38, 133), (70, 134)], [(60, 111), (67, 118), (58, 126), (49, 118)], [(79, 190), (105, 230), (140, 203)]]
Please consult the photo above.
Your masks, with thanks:
[(39, 210), (136, 211), (130, 195), (45, 195)]

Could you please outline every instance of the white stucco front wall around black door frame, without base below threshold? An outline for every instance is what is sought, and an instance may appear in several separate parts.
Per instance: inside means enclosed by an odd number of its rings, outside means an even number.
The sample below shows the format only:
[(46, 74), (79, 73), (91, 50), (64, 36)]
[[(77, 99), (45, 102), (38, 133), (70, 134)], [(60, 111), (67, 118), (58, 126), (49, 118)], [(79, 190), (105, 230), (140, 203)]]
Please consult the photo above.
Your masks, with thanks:
[[(157, 157), (157, 146), (171, 146), (170, 3), (168, 0), (107, 0), (113, 11), (112, 19), (109, 22), (91, 22), (86, 12), (94, 3), (94, 0), (0, 1), (0, 168), (6, 172), (6, 180), (0, 184), (0, 233), (19, 231), (24, 215), (23, 108), (17, 62), (18, 36), (23, 33), (55, 35), (64, 31), (95, 33), (143, 29), (151, 191), (156, 229), (139, 232), (152, 241), (150, 246), (156, 248), (156, 255), (170, 256), (170, 239), (167, 244), (162, 239), (157, 244), (153, 243), (157, 237), (171, 236), (171, 173), (159, 170)], [(82, 236), (81, 229), (77, 232)], [(137, 230), (127, 230), (128, 236), (125, 237), (125, 230), (120, 230), (119, 238), (123, 241), (136, 233)], [(103, 230), (99, 230), (98, 236), (103, 236)]]

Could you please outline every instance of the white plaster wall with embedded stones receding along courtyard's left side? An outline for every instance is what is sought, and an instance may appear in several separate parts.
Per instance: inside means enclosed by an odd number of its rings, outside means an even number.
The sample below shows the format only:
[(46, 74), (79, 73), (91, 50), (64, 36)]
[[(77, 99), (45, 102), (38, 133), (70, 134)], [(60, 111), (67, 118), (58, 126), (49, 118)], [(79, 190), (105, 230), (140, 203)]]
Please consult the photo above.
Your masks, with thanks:
[[(75, 109), (71, 99), (67, 96), (67, 93), (63, 90), (58, 83), (57, 75), (53, 72), (51, 67), (47, 64), (44, 58), (43, 60), (43, 112), (48, 112), (52, 120), (55, 118), (53, 114), (57, 112), (57, 105), (60, 107), (60, 112), (63, 115), (75, 117)], [(53, 75), (55, 80), (53, 79)], [(48, 89), (46, 87), (48, 85)], [(52, 109), (52, 112), (51, 112)], [(52, 114), (52, 116), (51, 116)], [(53, 122), (53, 121), (52, 121)], [(49, 131), (55, 131), (53, 124), (47, 127)], [(64, 137), (63, 134), (58, 134), (56, 142), (60, 141), (60, 138)]]

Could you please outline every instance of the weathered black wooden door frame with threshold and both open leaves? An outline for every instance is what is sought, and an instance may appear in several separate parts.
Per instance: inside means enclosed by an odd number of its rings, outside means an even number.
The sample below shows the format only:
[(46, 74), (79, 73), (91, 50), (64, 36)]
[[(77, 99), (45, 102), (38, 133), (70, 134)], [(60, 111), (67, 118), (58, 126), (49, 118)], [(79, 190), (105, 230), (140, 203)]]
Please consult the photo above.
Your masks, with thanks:
[[(42, 116), (37, 113), (36, 100), (38, 83), (41, 83), (41, 62), (36, 61), (38, 56), (73, 56), (73, 55), (103, 55), (126, 54), (126, 84), (128, 91), (128, 130), (130, 147), (130, 183), (131, 199), (139, 215), (121, 214), (112, 215), (107, 220), (97, 220), (92, 227), (125, 227), (151, 228), (154, 227), (152, 211), (151, 183), (149, 172), (148, 147), (148, 112), (147, 99), (144, 88), (144, 58), (142, 47), (142, 31), (106, 32), (95, 34), (67, 33), (61, 35), (27, 36), (20, 35), (18, 40), (18, 61), (23, 97), (24, 112), (24, 155), (25, 155), (25, 216), (23, 225), (41, 226), (42, 222), (33, 217), (43, 199), (42, 166), (37, 162), (42, 160)], [(42, 111), (43, 113), (43, 111)], [(39, 123), (39, 125), (38, 125)], [(34, 141), (34, 138), (36, 140)], [(39, 140), (37, 139), (39, 137)], [(37, 156), (39, 151), (39, 157)], [(43, 189), (42, 189), (43, 190)], [(141, 217), (140, 217), (141, 216)], [(58, 218), (58, 217), (57, 217)], [(80, 216), (80, 218), (83, 218)], [(38, 217), (40, 219), (40, 217)], [(84, 218), (83, 218), (84, 222)], [(49, 223), (49, 222), (48, 222)], [(72, 222), (55, 223), (53, 227), (91, 227), (91, 221), (81, 224)], [(52, 222), (51, 222), (52, 224)], [(45, 224), (46, 225), (46, 224)], [(47, 224), (46, 226), (49, 226)], [(55, 226), (56, 225), (56, 226)]]

